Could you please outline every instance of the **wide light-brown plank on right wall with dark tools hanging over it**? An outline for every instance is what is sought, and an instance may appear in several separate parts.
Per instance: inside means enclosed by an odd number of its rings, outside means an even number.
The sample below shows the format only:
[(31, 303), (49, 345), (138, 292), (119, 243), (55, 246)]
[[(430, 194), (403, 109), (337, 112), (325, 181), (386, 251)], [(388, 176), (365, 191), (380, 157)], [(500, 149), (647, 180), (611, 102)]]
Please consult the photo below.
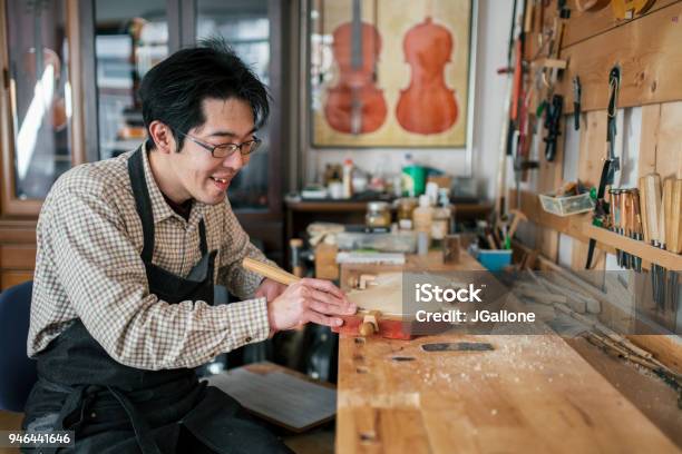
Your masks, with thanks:
[(573, 111), (572, 80), (583, 85), (582, 109), (605, 109), (608, 71), (621, 65), (618, 107), (682, 100), (682, 2), (675, 2), (608, 33), (598, 34), (562, 51), (568, 68), (557, 83), (566, 96), (566, 114)]

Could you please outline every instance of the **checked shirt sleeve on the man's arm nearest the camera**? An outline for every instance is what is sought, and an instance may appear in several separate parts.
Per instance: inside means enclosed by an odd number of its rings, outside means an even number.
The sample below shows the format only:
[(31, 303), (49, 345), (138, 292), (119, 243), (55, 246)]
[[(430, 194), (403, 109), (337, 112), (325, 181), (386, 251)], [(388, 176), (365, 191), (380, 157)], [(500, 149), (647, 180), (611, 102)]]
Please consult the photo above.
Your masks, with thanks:
[(45, 235), (70, 305), (116, 361), (143, 369), (196, 367), (267, 337), (265, 298), (210, 306), (149, 294), (139, 251), (104, 194), (67, 188)]

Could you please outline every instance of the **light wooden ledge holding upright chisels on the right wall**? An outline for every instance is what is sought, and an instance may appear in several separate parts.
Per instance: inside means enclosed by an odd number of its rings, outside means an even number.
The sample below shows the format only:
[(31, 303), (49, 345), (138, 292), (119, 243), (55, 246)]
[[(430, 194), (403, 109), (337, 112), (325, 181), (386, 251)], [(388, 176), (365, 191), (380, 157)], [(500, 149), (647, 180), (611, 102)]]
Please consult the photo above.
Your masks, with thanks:
[(624, 250), (642, 258), (642, 260), (661, 265), (662, 267), (671, 270), (682, 270), (682, 255), (674, 254), (665, 249), (659, 249), (645, 244), (644, 241), (627, 238), (626, 236), (614, 234), (611, 230), (596, 227), (587, 223), (582, 225), (582, 230), (590, 238), (596, 239), (597, 243)]

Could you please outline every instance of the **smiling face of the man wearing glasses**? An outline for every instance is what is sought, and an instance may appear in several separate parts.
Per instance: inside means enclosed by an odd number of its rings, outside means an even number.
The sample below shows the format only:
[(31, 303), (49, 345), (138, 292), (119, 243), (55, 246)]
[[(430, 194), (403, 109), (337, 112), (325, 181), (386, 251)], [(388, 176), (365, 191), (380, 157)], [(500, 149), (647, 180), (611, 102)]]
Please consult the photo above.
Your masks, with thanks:
[[(208, 98), (204, 99), (202, 108), (205, 124), (181, 132), (211, 146), (242, 144), (253, 139), (254, 118), (249, 102), (237, 98)], [(169, 156), (169, 166), (177, 182), (172, 198), (176, 201), (194, 198), (207, 205), (220, 204), (225, 199), (230, 182), (250, 157), (235, 151), (225, 158), (214, 158), (211, 151), (192, 138), (185, 137), (181, 151)]]

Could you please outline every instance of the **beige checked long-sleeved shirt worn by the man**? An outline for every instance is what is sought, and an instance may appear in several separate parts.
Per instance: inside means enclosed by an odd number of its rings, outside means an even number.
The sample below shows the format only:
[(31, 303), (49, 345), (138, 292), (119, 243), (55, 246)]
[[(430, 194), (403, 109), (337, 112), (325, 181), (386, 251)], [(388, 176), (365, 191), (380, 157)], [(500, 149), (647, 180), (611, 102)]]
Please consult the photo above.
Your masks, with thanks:
[[(128, 176), (131, 155), (75, 167), (46, 198), (37, 227), (28, 354), (45, 349), (77, 318), (114, 359), (142, 369), (195, 367), (267, 338), (265, 298), (210, 306), (168, 304), (149, 294)], [(214, 282), (240, 298), (252, 297), (262, 278), (241, 261), (245, 256), (267, 260), (250, 243), (230, 201), (194, 201), (185, 220), (164, 200), (143, 155), (155, 226), (153, 263), (186, 277), (201, 258), (204, 218), (208, 250), (218, 250)]]

